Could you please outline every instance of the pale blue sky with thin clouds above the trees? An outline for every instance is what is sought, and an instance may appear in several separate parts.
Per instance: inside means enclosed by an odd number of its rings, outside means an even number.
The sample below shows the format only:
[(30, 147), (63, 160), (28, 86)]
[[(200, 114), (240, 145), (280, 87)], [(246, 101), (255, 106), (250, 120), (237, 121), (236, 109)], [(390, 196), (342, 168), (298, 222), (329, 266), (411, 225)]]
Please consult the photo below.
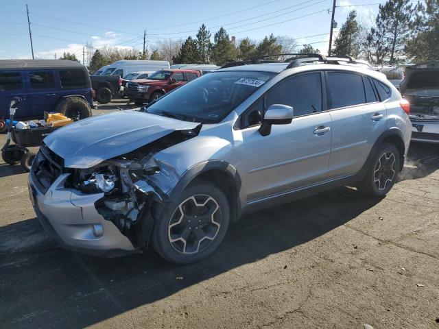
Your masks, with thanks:
[[(378, 5), (385, 0), (337, 0), (335, 21), (340, 27), (350, 9), (370, 21)], [(104, 45), (143, 47), (143, 29), (147, 45), (172, 38), (194, 36), (202, 23), (213, 34), (220, 26), (230, 36), (261, 40), (264, 36), (287, 35), (298, 38), (298, 45), (313, 43), (325, 53), (329, 40), (332, 0), (186, 0), (184, 1), (62, 1), (2, 0), (0, 2), (0, 58), (32, 58), (25, 3), (29, 16), (36, 58), (58, 58), (64, 51), (82, 59), (82, 47), (92, 42)], [(318, 35), (323, 34), (323, 35)], [(316, 36), (318, 35), (318, 36)]]

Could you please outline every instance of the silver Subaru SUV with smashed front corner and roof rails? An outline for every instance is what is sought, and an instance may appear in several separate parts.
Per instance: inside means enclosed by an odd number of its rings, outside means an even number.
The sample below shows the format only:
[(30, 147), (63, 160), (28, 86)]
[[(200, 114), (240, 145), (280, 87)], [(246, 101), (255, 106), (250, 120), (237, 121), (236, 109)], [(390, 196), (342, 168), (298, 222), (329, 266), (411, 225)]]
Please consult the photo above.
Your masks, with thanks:
[(88, 254), (152, 245), (188, 264), (244, 212), (346, 184), (390, 191), (412, 125), (382, 73), (312, 54), (226, 66), (45, 138), (29, 194), (47, 232)]

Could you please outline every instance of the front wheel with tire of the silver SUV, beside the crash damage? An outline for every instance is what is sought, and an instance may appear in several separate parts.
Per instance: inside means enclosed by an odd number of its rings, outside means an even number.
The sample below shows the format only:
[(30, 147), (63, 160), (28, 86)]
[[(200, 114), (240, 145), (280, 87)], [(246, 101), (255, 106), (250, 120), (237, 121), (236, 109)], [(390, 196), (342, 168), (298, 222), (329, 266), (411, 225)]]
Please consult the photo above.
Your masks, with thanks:
[(204, 180), (190, 184), (156, 220), (152, 245), (165, 260), (186, 265), (210, 256), (224, 239), (230, 206), (222, 190)]

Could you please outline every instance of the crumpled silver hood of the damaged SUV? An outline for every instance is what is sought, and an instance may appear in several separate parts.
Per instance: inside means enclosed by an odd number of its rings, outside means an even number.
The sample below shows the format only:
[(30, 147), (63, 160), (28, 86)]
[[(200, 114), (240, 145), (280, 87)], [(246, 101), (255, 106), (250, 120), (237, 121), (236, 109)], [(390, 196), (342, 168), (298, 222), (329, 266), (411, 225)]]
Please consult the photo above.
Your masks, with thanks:
[(45, 145), (64, 159), (64, 166), (90, 168), (126, 154), (177, 130), (200, 123), (125, 110), (80, 120), (52, 132)]

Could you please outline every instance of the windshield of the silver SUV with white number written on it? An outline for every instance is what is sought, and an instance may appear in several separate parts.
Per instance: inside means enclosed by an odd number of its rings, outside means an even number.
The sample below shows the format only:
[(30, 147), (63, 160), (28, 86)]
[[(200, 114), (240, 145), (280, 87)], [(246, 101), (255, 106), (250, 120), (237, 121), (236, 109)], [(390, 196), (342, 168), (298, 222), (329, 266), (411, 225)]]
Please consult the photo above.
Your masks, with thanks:
[(145, 108), (186, 121), (217, 123), (252, 95), (274, 73), (224, 71), (203, 75)]

